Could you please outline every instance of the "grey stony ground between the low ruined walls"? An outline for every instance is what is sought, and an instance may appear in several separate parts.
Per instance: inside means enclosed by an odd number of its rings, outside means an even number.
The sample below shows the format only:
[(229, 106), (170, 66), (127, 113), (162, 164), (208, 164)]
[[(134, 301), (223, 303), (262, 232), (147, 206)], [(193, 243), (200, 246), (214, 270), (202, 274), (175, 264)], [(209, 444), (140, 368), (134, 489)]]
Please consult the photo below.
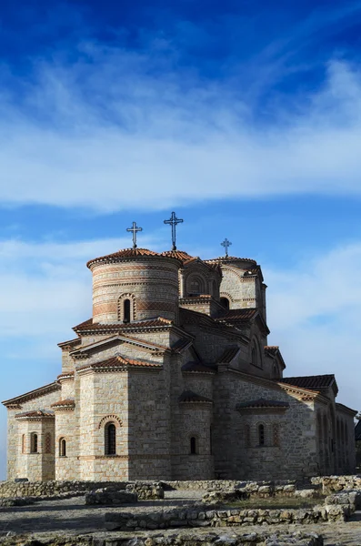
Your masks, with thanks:
[[(62, 501), (39, 501), (30, 506), (0, 508), (0, 537), (13, 533), (49, 533), (84, 534), (102, 533), (104, 514), (111, 511), (162, 511), (179, 506), (191, 506), (202, 498), (202, 491), (173, 490), (166, 491), (164, 501), (142, 501), (136, 505), (124, 507), (86, 506), (84, 497)], [(272, 526), (272, 530), (285, 531), (285, 526)], [(317, 525), (288, 525), (287, 531), (315, 531), (322, 534), (326, 546), (361, 546), (361, 511), (356, 512), (351, 521), (346, 523), (325, 523)], [(175, 530), (173, 530), (174, 532)], [(206, 533), (210, 530), (197, 530)], [(226, 532), (226, 529), (222, 531)], [(238, 531), (265, 531), (265, 527), (242, 527)], [(155, 532), (155, 531), (154, 531)], [(194, 532), (194, 530), (193, 530)], [(236, 532), (235, 528), (229, 530)], [(151, 534), (151, 531), (149, 531)], [(111, 533), (108, 533), (111, 534)]]

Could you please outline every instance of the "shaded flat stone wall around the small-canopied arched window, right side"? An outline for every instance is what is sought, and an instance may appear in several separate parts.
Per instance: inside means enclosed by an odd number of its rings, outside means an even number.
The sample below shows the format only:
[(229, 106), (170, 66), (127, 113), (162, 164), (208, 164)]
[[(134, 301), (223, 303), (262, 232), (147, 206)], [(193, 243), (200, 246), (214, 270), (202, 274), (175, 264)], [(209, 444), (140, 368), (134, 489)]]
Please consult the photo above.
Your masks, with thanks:
[[(255, 399), (286, 401), (285, 414), (240, 414), (236, 404)], [(316, 474), (316, 422), (312, 402), (300, 401), (283, 389), (266, 389), (237, 377), (236, 372), (218, 373), (215, 379), (214, 453), (216, 475), (239, 479), (302, 479)], [(264, 424), (265, 445), (259, 445), (258, 424)], [(273, 425), (278, 424), (278, 440)], [(247, 428), (251, 431), (247, 439)], [(275, 445), (275, 443), (277, 445)]]

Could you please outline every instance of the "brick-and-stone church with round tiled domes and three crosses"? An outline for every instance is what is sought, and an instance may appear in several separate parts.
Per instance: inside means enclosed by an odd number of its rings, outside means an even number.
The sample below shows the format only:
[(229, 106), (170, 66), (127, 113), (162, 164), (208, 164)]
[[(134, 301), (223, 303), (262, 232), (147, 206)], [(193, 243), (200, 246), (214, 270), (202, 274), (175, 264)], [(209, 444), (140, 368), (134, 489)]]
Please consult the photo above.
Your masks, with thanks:
[[(254, 259), (136, 245), (86, 265), (93, 316), (53, 383), (3, 402), (7, 479), (297, 480), (355, 471), (333, 374), (286, 375)], [(90, 295), (89, 295), (90, 296)], [(60, 371), (60, 370), (59, 370)], [(316, 371), (316, 370), (315, 370)]]

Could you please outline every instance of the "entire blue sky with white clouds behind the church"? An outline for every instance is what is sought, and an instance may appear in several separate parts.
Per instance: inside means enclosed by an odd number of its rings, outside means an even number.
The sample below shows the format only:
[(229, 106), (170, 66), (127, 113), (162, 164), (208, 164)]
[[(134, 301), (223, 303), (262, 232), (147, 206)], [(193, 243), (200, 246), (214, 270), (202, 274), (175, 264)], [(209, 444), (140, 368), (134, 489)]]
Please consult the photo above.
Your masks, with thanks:
[(5, 0), (0, 25), (0, 399), (60, 372), (86, 260), (133, 220), (169, 248), (175, 210), (178, 248), (262, 265), (286, 374), (360, 409), (361, 1)]

